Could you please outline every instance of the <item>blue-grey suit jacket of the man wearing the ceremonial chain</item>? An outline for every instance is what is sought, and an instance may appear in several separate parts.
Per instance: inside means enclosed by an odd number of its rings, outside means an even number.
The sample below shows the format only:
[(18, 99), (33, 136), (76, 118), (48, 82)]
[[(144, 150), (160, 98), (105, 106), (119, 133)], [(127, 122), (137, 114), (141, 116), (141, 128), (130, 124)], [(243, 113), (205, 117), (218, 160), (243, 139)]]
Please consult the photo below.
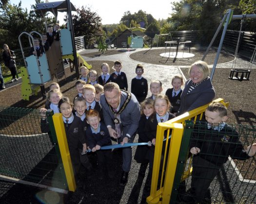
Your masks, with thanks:
[[(136, 97), (133, 94), (131, 95), (132, 96), (130, 102), (120, 113), (120, 119), (123, 128), (122, 138), (126, 136), (126, 134), (133, 136), (138, 129), (138, 123), (140, 119), (140, 106)], [(121, 91), (120, 107), (125, 102), (126, 98), (127, 94), (124, 91)], [(111, 125), (112, 128), (115, 129), (114, 114), (112, 113), (104, 94), (100, 96), (100, 104), (102, 107), (103, 118), (106, 126)]]

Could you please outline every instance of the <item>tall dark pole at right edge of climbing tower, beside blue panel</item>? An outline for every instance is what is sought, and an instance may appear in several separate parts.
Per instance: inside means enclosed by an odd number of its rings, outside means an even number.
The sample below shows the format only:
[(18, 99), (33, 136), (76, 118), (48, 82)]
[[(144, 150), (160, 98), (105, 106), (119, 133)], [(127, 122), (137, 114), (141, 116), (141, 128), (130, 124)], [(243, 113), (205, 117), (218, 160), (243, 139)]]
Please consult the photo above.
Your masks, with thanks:
[(72, 21), (72, 14), (71, 14), (71, 4), (70, 0), (66, 0), (67, 3), (67, 13), (68, 13), (68, 21), (71, 28), (71, 41), (72, 41), (72, 48), (73, 48), (73, 55), (74, 55), (74, 63), (76, 68), (76, 75), (77, 80), (79, 79), (79, 69), (78, 69), (78, 56), (77, 56), (77, 50), (76, 50), (76, 44), (75, 44), (75, 34), (74, 34), (74, 27), (73, 27), (73, 21)]

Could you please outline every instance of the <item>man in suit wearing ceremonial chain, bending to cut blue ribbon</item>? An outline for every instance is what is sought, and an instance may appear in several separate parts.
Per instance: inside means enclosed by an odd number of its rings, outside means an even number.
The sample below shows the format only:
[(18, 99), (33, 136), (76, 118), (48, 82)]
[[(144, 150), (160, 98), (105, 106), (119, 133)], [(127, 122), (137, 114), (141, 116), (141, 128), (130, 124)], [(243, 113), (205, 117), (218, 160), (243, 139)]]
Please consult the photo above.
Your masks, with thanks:
[[(100, 96), (100, 104), (109, 135), (117, 139), (121, 145), (133, 142), (140, 119), (140, 106), (136, 97), (127, 91), (120, 90), (118, 84), (110, 82), (104, 85), (104, 95)], [(131, 147), (122, 148), (122, 153), (120, 185), (124, 186), (131, 169)]]

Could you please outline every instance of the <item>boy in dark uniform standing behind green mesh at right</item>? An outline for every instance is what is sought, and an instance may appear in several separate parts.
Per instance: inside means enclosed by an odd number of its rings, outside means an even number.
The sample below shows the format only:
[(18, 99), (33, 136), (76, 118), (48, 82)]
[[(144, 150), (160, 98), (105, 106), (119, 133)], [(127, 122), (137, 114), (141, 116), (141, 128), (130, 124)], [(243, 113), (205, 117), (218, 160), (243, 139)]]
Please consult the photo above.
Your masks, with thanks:
[(227, 125), (227, 108), (212, 102), (205, 110), (205, 120), (197, 121), (191, 137), (190, 152), (193, 154), (193, 171), (190, 193), (183, 200), (204, 202), (205, 193), (228, 157), (245, 160), (255, 155), (256, 143), (243, 149), (234, 127)]

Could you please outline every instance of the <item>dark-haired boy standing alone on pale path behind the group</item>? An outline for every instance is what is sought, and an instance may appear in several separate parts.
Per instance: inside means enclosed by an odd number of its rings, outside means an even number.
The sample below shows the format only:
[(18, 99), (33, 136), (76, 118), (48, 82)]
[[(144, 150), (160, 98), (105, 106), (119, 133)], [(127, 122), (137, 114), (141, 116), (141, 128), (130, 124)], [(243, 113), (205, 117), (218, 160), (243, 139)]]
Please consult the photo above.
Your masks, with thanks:
[(138, 64), (135, 72), (137, 76), (132, 79), (131, 92), (136, 96), (138, 102), (143, 102), (148, 95), (148, 81), (142, 76), (143, 65)]

